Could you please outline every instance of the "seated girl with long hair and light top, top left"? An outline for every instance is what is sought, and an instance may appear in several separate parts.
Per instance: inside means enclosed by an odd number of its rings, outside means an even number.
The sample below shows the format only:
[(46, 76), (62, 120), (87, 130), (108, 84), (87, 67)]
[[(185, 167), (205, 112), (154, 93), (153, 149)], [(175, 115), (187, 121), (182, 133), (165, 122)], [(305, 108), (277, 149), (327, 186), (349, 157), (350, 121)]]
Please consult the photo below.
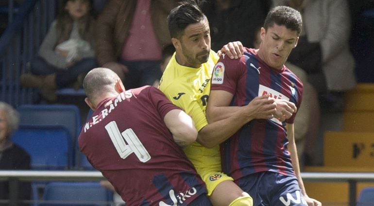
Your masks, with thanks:
[[(21, 85), (40, 89), (43, 98), (56, 101), (55, 90), (76, 82), (95, 68), (93, 0), (65, 0), (43, 40), (39, 56), (31, 62), (31, 73), (21, 75)], [(79, 81), (77, 81), (79, 80)]]

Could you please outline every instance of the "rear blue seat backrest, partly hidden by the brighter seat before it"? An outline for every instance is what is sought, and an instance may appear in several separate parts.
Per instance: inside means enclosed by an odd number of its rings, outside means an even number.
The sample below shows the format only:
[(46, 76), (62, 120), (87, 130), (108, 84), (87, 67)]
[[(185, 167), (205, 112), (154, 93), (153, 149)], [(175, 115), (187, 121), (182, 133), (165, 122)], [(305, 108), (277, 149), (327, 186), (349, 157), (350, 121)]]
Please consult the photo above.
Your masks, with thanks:
[(81, 132), (82, 119), (78, 106), (73, 104), (23, 104), (17, 107), (20, 124), (64, 125), (72, 138), (72, 146)]

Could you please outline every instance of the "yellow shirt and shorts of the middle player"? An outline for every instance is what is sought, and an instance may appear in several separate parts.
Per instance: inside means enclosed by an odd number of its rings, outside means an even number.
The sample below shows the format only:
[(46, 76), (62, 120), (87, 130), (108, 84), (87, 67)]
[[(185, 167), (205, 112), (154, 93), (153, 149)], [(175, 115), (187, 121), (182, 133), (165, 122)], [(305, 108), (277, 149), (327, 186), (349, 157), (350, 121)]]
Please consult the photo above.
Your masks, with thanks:
[[(208, 124), (205, 117), (206, 104), (212, 71), (218, 59), (217, 53), (210, 51), (206, 63), (200, 68), (191, 68), (178, 64), (174, 52), (160, 80), (159, 89), (172, 103), (192, 117), (197, 131)], [(208, 149), (195, 141), (184, 151), (207, 184), (208, 194), (211, 194), (221, 181), (232, 180), (221, 173), (219, 145)]]

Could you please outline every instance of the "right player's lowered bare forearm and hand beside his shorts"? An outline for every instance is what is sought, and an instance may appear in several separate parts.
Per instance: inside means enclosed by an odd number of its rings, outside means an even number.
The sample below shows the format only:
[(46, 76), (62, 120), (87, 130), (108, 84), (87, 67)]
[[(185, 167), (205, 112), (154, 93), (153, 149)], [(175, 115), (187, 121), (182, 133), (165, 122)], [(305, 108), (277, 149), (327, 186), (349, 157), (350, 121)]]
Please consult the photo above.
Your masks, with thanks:
[(286, 124), (287, 129), (287, 138), (289, 139), (289, 144), (287, 146), (287, 149), (289, 150), (289, 153), (291, 155), (291, 162), (293, 170), (295, 171), (296, 178), (299, 182), (299, 187), (301, 189), (301, 192), (304, 196), (305, 201), (307, 202), (308, 206), (321, 206), (321, 202), (310, 198), (306, 194), (306, 190), (304, 187), (303, 179), (301, 178), (300, 174), (300, 165), (299, 165), (299, 158), (297, 156), (297, 149), (296, 149), (296, 143), (295, 143), (295, 137), (294, 137), (294, 125), (293, 124)]

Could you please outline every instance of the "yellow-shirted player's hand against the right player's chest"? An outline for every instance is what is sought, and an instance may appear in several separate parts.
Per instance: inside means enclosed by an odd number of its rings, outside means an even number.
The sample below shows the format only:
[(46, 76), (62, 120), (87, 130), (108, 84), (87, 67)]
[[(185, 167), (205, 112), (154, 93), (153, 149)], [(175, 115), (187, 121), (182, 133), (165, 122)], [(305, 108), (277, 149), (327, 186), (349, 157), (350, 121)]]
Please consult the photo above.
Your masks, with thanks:
[(275, 99), (269, 94), (255, 97), (248, 105), (246, 105), (248, 114), (253, 119), (272, 119), (276, 111)]

